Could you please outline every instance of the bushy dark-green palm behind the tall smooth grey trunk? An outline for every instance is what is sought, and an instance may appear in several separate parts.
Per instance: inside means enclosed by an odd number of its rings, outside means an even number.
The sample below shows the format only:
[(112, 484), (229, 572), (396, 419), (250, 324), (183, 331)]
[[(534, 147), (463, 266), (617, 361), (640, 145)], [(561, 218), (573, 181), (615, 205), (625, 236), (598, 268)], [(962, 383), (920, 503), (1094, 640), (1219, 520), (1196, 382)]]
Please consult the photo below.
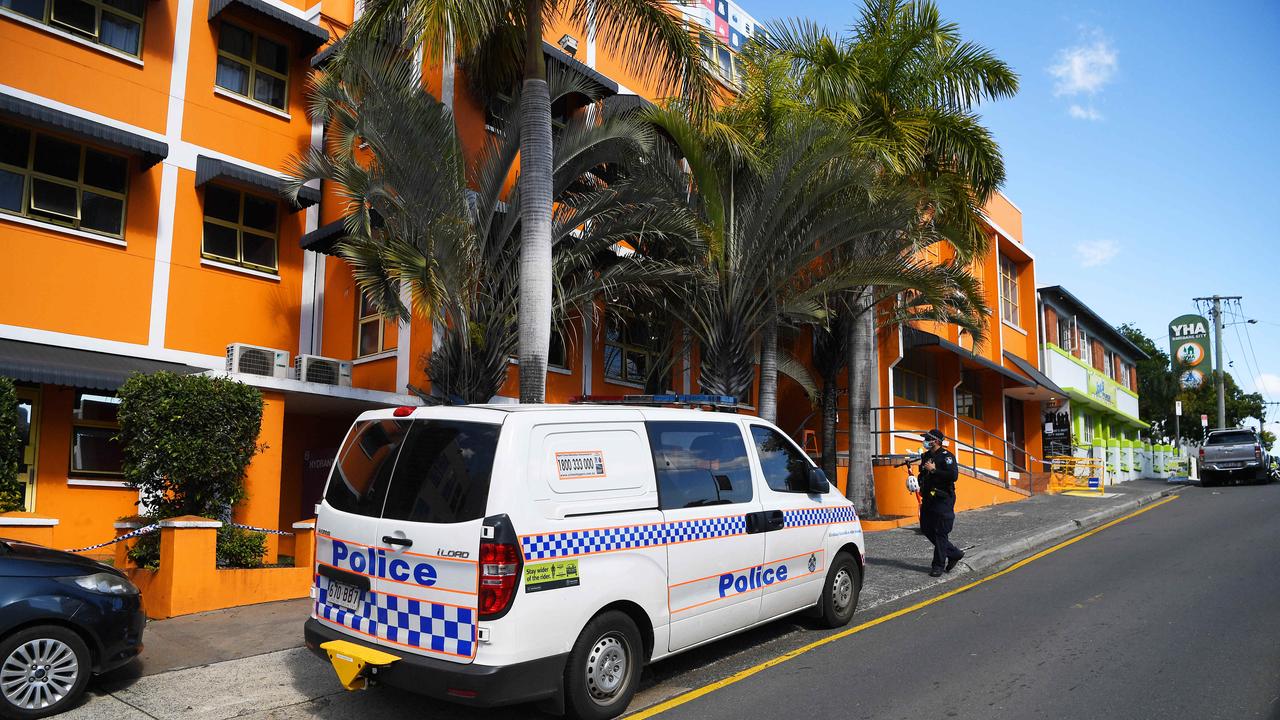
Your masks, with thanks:
[[(442, 338), (426, 363), (431, 400), (486, 402), (517, 350), (527, 176), (503, 191), (518, 154), (518, 104), (467, 165), (452, 114), (422, 88), (410, 54), (389, 45), (353, 53), (356, 61), (315, 83), (312, 115), (329, 127), (329, 142), (294, 160), (291, 190), (333, 182), (347, 205), (338, 251), (361, 292), (384, 316), (436, 322)], [(568, 73), (553, 73), (548, 88), (557, 99), (593, 92)], [(689, 243), (696, 251), (698, 227), (678, 168), (652, 156), (652, 143), (649, 126), (625, 118), (577, 118), (557, 138), (550, 233), (561, 322), (593, 311), (602, 293), (614, 304), (643, 301), (684, 279), (662, 251)], [(603, 170), (611, 182), (599, 179)], [(620, 240), (659, 250), (620, 256), (611, 250)]]

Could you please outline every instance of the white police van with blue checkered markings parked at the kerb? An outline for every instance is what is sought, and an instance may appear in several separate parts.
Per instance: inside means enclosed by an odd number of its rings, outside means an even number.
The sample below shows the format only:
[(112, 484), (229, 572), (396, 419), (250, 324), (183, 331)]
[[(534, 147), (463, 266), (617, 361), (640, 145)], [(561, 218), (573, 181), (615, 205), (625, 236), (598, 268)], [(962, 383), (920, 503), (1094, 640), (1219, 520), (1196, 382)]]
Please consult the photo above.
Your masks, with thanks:
[(851, 503), (758, 418), (628, 405), (362, 414), (316, 520), (306, 643), (348, 689), (626, 710), (645, 662), (854, 614)]

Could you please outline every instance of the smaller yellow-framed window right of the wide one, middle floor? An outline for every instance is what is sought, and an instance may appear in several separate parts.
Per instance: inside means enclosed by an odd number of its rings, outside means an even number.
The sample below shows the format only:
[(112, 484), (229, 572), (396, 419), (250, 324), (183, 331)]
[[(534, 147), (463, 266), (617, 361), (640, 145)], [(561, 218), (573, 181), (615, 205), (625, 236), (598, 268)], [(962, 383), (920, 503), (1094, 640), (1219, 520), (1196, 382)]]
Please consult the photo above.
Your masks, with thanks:
[(205, 186), (205, 258), (274, 273), (279, 202), (219, 184)]

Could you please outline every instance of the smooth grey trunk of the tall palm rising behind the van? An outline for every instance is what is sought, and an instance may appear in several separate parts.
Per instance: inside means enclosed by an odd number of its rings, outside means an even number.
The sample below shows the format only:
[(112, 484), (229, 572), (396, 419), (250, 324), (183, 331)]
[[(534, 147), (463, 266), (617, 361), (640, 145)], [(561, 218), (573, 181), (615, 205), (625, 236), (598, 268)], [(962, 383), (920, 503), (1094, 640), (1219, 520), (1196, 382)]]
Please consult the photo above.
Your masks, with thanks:
[(541, 3), (525, 0), (525, 86), (520, 96), (520, 401), (547, 398), (552, 340), (552, 100)]

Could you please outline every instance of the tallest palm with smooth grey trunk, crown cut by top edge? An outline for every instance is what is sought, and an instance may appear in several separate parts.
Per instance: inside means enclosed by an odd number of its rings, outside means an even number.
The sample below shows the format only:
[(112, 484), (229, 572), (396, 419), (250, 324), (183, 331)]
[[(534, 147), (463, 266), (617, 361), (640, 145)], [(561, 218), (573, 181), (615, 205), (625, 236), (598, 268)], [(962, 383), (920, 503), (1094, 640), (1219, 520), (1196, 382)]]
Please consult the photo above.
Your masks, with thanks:
[[(448, 47), (479, 49), (506, 28), (520, 28), (524, 83), (520, 92), (520, 168), (525, 178), (520, 243), (520, 398), (541, 402), (552, 323), (554, 172), (552, 99), (543, 29), (567, 19), (599, 37), (630, 70), (690, 106), (709, 110), (716, 81), (698, 42), (666, 0), (371, 0), (352, 27), (348, 47), (403, 32), (433, 58)], [(339, 58), (340, 59), (340, 58)]]

